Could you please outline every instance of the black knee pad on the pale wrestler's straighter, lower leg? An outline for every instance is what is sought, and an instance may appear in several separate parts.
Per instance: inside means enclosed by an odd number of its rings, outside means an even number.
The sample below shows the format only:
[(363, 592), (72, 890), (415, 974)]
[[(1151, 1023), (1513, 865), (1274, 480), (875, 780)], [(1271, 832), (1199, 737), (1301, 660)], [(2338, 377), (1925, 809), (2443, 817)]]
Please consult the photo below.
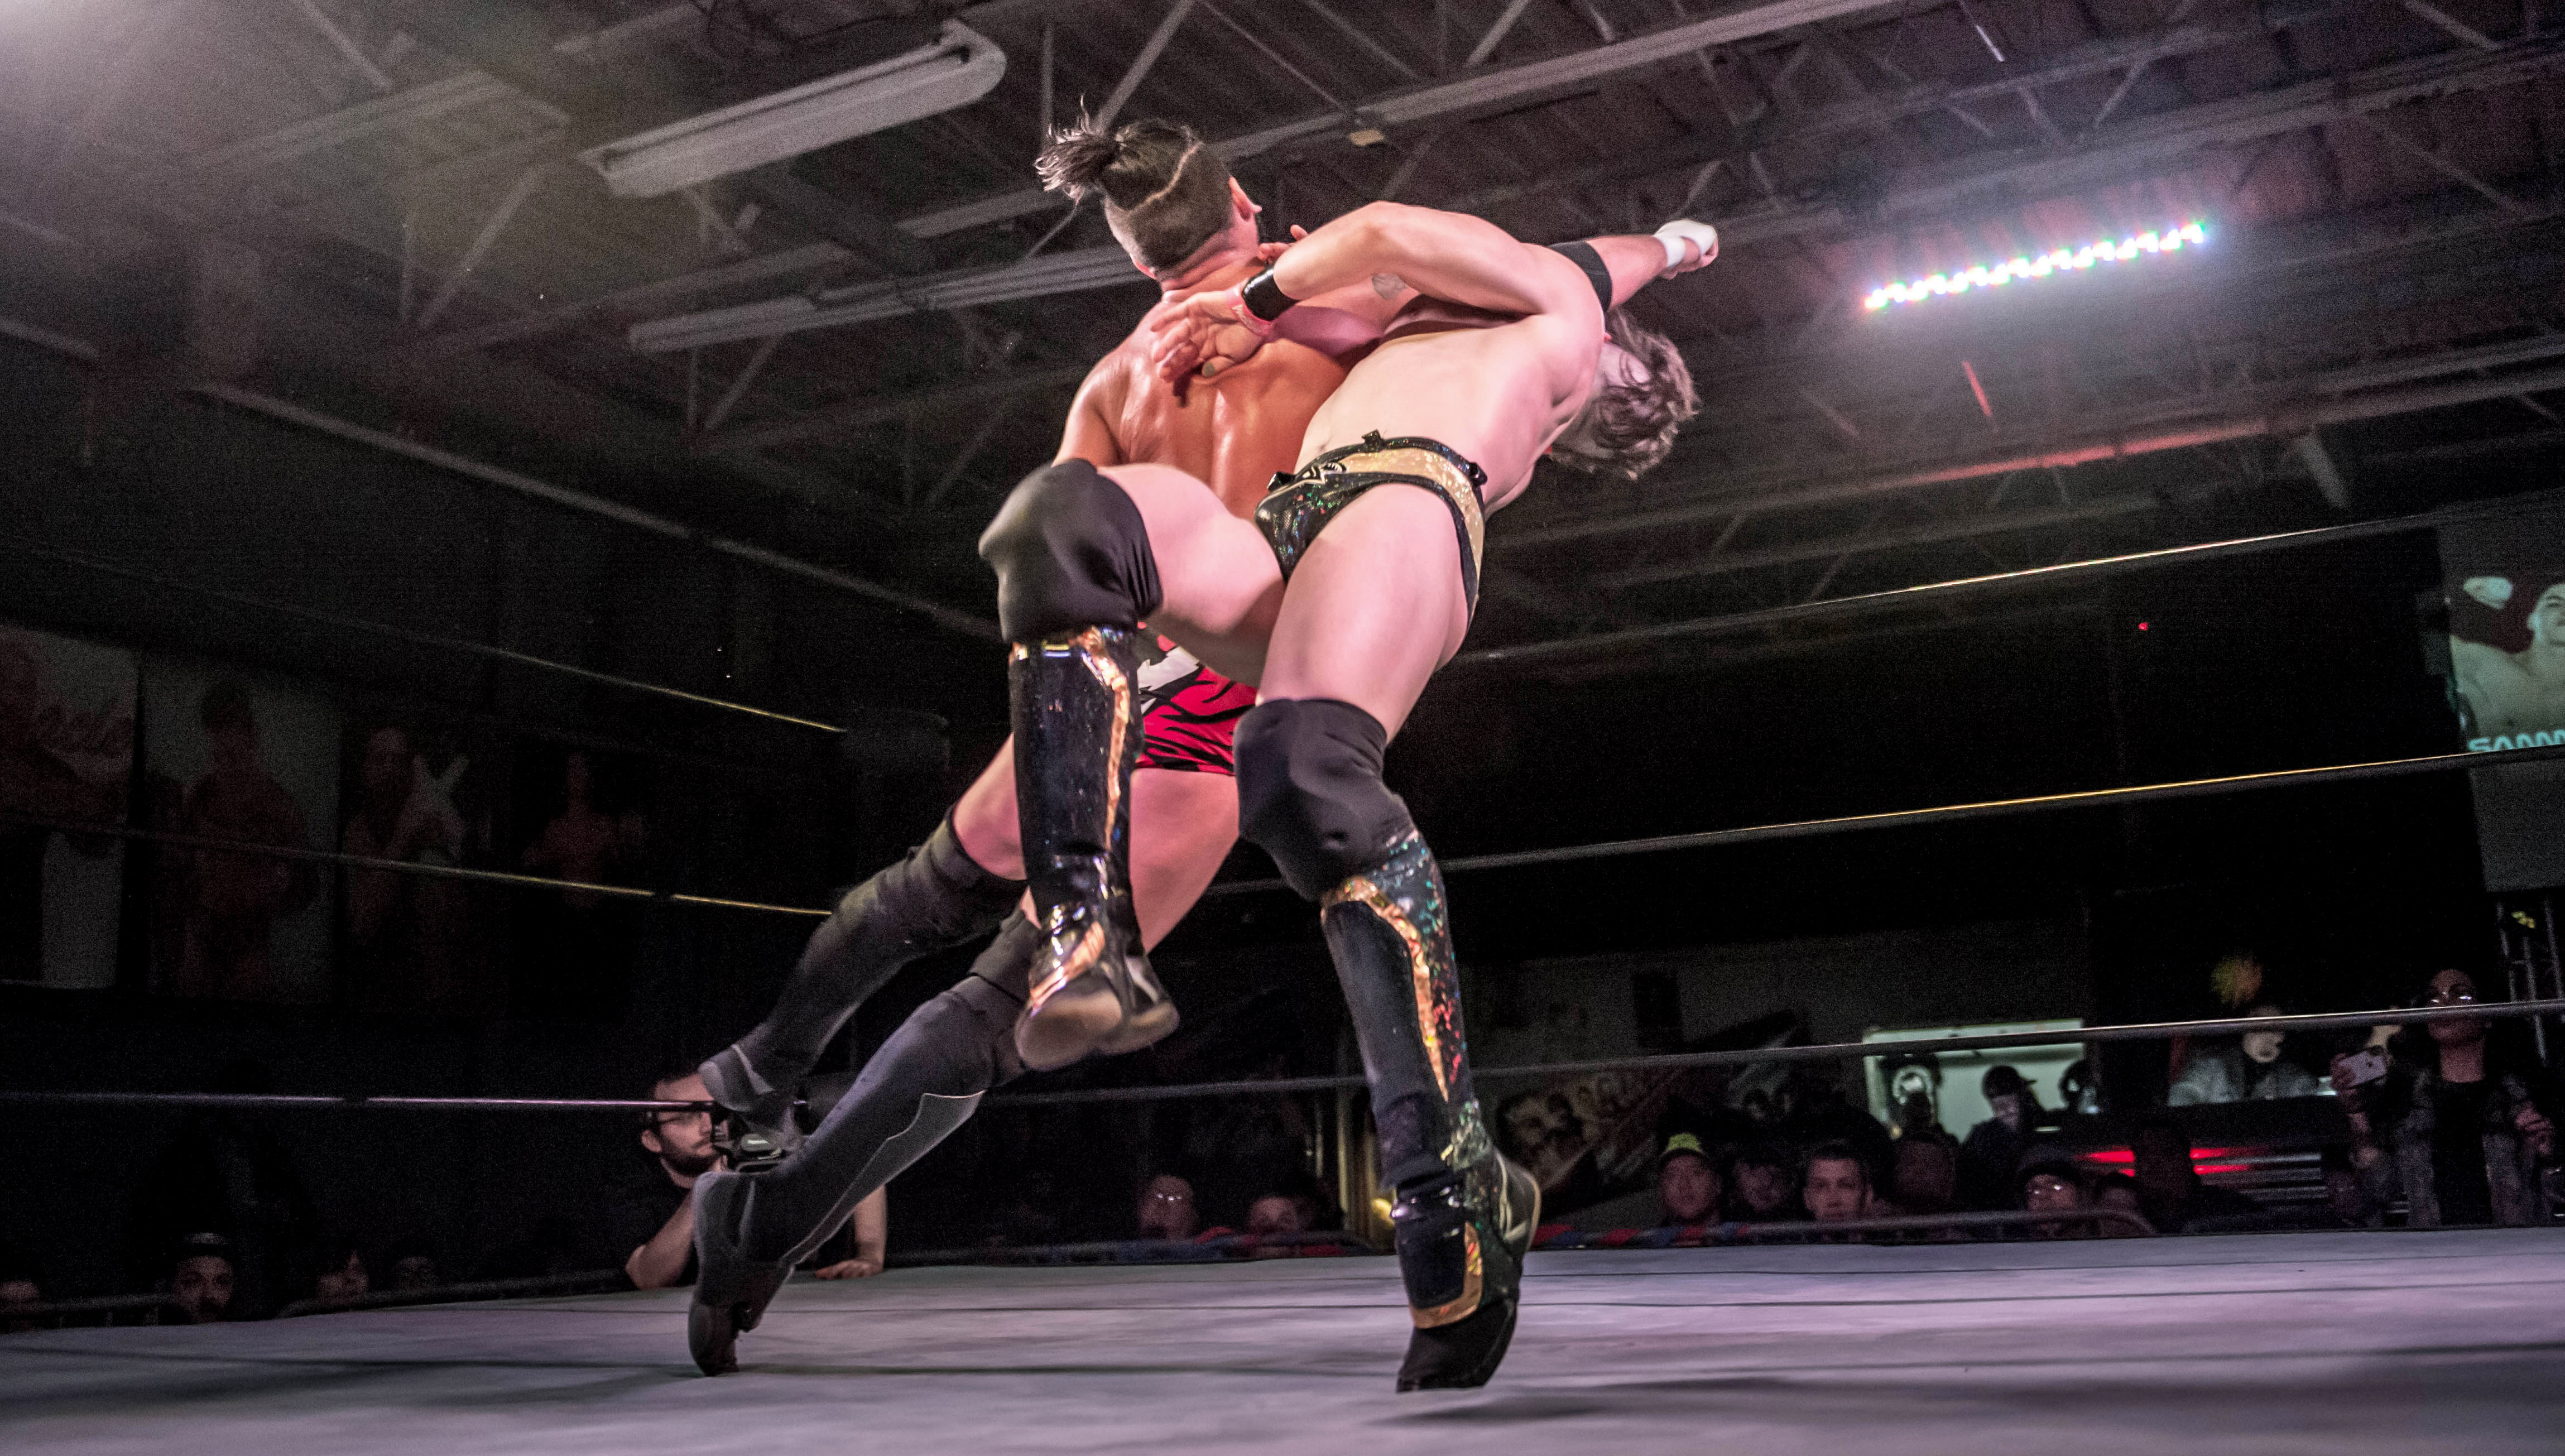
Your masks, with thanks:
[(1377, 866), (1416, 828), (1380, 782), (1390, 731), (1352, 702), (1259, 702), (1239, 720), (1236, 746), (1239, 836), (1275, 856), (1308, 900)]

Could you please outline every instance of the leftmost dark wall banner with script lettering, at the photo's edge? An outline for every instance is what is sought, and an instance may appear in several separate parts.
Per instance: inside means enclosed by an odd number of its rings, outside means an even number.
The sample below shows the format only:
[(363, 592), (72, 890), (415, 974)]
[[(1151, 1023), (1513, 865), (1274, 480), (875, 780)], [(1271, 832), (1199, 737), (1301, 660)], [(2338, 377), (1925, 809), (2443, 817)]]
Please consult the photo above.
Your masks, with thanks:
[(51, 823), (126, 823), (133, 654), (0, 625), (0, 982), (115, 984), (126, 843)]

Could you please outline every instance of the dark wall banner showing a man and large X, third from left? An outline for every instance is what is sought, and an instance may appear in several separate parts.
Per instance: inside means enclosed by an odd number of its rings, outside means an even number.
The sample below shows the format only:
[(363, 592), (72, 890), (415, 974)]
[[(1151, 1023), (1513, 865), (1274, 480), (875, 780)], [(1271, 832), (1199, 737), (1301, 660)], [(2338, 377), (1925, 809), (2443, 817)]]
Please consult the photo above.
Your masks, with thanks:
[[(505, 741), (418, 713), (362, 713), (341, 743), (339, 851), (423, 866), (505, 869)], [(505, 1007), (508, 892), (462, 879), (346, 869), (339, 974), (369, 1010)]]

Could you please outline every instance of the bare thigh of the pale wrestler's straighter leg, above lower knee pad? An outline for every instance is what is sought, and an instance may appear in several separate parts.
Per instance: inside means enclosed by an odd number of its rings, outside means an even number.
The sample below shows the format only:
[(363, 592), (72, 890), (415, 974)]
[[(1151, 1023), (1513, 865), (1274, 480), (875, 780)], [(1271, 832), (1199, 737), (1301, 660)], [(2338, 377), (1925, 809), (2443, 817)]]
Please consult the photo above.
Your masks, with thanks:
[(1467, 631), (1452, 508), (1431, 490), (1383, 484), (1300, 554), (1259, 697), (1334, 697), (1398, 733)]

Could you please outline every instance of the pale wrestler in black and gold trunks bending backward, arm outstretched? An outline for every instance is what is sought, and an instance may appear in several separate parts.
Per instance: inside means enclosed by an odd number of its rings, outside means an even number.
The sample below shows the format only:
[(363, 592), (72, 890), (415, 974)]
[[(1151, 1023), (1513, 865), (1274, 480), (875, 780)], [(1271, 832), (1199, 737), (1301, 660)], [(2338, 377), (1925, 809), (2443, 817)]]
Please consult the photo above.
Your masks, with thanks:
[[(1295, 300), (1370, 279), (1408, 300), (1311, 418), (1300, 469), (1277, 477), (1254, 525), (1180, 469), (1059, 461), (1018, 484), (980, 538), (1016, 643), (1034, 902), (1044, 923), (1103, 928), (1093, 956), (1054, 943), (1036, 966), (1036, 987), (1070, 987), (1054, 1005), (1103, 1005), (1103, 987), (1141, 969), (1113, 920), (1111, 859), (1103, 877), (1039, 872), (1064, 859), (1052, 836), (1126, 797), (1123, 705), (1141, 623), (1259, 684), (1236, 733), (1239, 820), (1321, 905), (1362, 1046), (1416, 1320), (1400, 1389), (1495, 1374), (1539, 1187), (1488, 1141), (1442, 874), (1380, 759), (1470, 628), (1485, 515), (1524, 492), (1544, 454), (1639, 474), (1672, 446), (1695, 410), (1690, 377), (1672, 343), (1616, 305), (1713, 251), (1698, 223), (1539, 249), (1477, 218), (1362, 208), (1239, 287), (1154, 318), (1167, 377), (1216, 382), (1285, 333)], [(1029, 1023), (1044, 1015), (1039, 1002), (1026, 1010)]]

